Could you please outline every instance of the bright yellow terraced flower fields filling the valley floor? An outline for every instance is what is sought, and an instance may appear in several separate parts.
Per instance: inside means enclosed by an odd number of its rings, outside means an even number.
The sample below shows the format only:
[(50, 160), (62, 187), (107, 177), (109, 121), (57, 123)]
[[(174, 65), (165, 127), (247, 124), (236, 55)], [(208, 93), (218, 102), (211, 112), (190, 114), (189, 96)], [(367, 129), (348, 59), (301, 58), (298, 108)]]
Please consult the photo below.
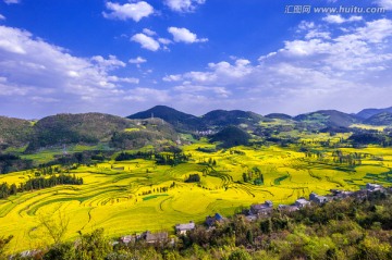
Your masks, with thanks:
[[(311, 191), (354, 190), (368, 182), (390, 185), (392, 179), (390, 148), (342, 149), (368, 154), (360, 165), (348, 166), (335, 163), (332, 150), (323, 150), (323, 157), (317, 159), (293, 147), (236, 147), (215, 152), (200, 152), (198, 147), (211, 145), (184, 147), (191, 161), (173, 168), (142, 159), (79, 166), (72, 174), (83, 177), (81, 186), (56, 186), (0, 200), (0, 236), (14, 235), (11, 251), (40, 247), (52, 243), (40, 220), (61, 214), (70, 221), (66, 239), (97, 227), (105, 227), (113, 237), (172, 230), (176, 223), (203, 222), (215, 212), (231, 215), (240, 207), (265, 200), (275, 206), (292, 203)], [(209, 159), (216, 165), (208, 164)], [(254, 168), (264, 175), (264, 185), (244, 182), (243, 173)], [(199, 184), (184, 182), (195, 173), (201, 176)], [(11, 173), (1, 175), (0, 183), (19, 184), (29, 177), (29, 171)]]

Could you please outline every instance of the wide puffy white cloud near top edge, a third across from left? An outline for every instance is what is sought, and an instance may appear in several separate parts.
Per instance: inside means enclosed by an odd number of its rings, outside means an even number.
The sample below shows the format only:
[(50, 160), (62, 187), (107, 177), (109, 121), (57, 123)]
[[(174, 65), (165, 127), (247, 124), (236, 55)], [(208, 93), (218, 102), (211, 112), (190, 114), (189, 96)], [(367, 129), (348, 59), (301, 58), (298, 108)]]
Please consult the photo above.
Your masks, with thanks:
[(106, 18), (118, 18), (123, 21), (132, 18), (135, 22), (139, 22), (143, 17), (148, 17), (154, 13), (154, 8), (145, 1), (125, 4), (107, 2), (106, 7), (111, 11), (110, 13), (102, 13)]

